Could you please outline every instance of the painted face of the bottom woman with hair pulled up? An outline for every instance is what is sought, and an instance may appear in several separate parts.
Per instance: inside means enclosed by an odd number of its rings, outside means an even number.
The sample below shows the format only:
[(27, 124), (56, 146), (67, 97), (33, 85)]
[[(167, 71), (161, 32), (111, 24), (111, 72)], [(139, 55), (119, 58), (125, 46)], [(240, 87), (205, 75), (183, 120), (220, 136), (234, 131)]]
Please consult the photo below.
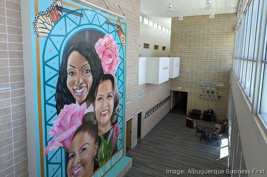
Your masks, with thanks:
[(71, 141), (68, 177), (89, 177), (93, 172), (93, 160), (97, 151), (94, 138), (87, 132), (79, 132)]

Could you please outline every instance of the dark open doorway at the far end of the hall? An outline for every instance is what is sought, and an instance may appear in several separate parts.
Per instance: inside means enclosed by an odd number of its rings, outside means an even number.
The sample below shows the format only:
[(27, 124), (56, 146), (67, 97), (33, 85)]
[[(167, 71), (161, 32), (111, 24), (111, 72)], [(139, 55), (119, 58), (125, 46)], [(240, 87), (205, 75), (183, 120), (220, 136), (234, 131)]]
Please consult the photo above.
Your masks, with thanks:
[(170, 111), (171, 113), (186, 115), (187, 94), (187, 92), (173, 91), (173, 109)]

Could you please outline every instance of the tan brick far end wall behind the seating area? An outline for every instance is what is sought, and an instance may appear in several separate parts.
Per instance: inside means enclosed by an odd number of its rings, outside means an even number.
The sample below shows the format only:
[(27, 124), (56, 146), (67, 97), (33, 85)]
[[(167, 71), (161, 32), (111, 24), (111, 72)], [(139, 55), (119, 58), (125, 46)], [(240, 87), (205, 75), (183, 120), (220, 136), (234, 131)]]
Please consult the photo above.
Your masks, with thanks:
[[(171, 56), (180, 57), (180, 75), (171, 80), (171, 90), (188, 92), (187, 112), (212, 107), (218, 118), (226, 118), (232, 68), (236, 13), (172, 18)], [(223, 83), (214, 97), (203, 96), (199, 81)], [(181, 89), (178, 89), (181, 87)], [(217, 93), (218, 92), (218, 93)], [(212, 94), (211, 94), (212, 95)], [(222, 99), (217, 99), (220, 95)]]

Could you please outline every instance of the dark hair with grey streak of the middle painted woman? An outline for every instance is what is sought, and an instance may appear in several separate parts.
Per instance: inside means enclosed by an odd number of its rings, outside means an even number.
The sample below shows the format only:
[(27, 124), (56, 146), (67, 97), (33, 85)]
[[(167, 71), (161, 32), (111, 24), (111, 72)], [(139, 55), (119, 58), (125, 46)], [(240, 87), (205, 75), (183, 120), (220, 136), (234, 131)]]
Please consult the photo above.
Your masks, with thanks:
[[(113, 94), (114, 94), (114, 106), (113, 106), (113, 111), (111, 114), (111, 125), (114, 126), (116, 123), (118, 123), (118, 116), (119, 116), (119, 111), (120, 111), (120, 93), (119, 93), (119, 89), (118, 89), (118, 85), (117, 85), (117, 79), (115, 77), (115, 75), (113, 74), (104, 74), (100, 81), (98, 82), (96, 88), (95, 88), (95, 94), (94, 94), (94, 98), (96, 98), (97, 96), (97, 89), (99, 87), (99, 85), (105, 81), (105, 80), (110, 80), (112, 82), (112, 87), (113, 87)], [(93, 102), (93, 107), (95, 105), (95, 101)]]

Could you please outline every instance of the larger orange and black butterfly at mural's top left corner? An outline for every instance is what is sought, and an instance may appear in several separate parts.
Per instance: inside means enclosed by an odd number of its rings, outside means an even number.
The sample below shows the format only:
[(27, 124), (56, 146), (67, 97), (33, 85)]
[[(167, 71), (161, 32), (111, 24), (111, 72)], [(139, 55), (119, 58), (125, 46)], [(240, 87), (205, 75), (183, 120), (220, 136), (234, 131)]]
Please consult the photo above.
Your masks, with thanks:
[(33, 21), (34, 33), (38, 37), (47, 37), (56, 21), (62, 17), (62, 11), (56, 8), (62, 7), (62, 0), (53, 0), (45, 12), (39, 12)]

